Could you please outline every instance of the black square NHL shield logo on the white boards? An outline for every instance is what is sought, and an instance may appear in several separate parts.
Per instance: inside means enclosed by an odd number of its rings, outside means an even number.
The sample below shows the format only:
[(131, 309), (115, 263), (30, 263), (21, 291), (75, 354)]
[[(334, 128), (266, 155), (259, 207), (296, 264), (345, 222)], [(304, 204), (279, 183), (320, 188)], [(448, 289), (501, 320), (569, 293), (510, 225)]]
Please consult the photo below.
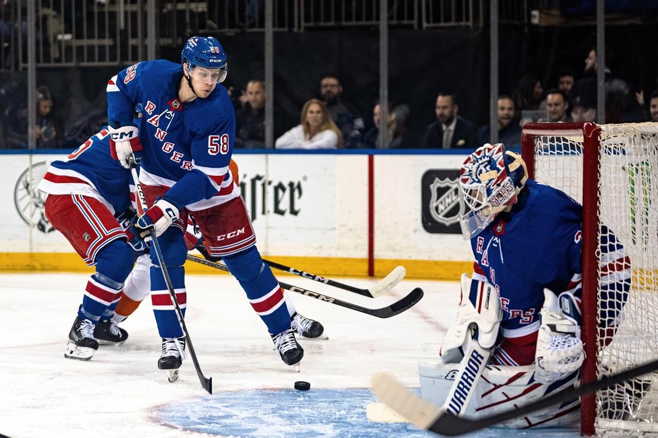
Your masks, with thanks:
[(459, 191), (459, 170), (430, 169), (422, 176), (422, 226), (428, 233), (461, 233), (467, 211)]

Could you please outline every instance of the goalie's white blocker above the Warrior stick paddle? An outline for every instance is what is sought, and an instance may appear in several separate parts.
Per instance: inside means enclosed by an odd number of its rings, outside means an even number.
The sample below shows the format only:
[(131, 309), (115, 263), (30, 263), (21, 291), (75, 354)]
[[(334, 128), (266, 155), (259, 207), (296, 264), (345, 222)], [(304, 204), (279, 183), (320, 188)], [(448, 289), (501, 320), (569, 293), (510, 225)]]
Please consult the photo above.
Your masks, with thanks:
[[(470, 297), (475, 303), (470, 301)], [(479, 313), (476, 308), (480, 309)], [(493, 285), (486, 281), (471, 280), (467, 274), (461, 274), (461, 301), (439, 351), (443, 363), (461, 362), (473, 326), (478, 328), (477, 342), (480, 347), (492, 348), (502, 320), (503, 310)]]

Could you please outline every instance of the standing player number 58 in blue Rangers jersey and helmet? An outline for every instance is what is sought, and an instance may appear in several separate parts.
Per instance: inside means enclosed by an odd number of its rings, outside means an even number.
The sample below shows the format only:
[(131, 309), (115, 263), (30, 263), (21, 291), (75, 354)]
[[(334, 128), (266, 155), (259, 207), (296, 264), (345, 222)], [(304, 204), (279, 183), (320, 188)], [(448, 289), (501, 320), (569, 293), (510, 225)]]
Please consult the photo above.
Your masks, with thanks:
[[(178, 303), (186, 310), (184, 229), (188, 212), (213, 256), (221, 256), (268, 328), (286, 364), (297, 364), (297, 343), (283, 291), (263, 264), (240, 191), (228, 165), (233, 151), (235, 113), (220, 82), (226, 78), (226, 53), (214, 37), (191, 37), (181, 63), (143, 61), (114, 76), (107, 86), (111, 149), (122, 166), (143, 149), (139, 181), (150, 206), (135, 229), (159, 236)], [(131, 110), (141, 103), (139, 126)], [(151, 257), (151, 301), (163, 353), (158, 367), (170, 376), (180, 368), (185, 339), (174, 313), (157, 258)]]

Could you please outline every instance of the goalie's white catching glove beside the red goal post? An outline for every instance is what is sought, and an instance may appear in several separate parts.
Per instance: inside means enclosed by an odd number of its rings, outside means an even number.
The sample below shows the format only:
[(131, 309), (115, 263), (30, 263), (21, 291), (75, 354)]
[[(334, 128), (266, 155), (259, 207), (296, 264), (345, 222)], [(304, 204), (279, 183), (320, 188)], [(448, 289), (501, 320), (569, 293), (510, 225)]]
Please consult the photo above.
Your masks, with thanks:
[(537, 335), (535, 379), (551, 383), (578, 370), (585, 360), (580, 326), (574, 318), (574, 296), (563, 292), (560, 297), (544, 289), (544, 306), (540, 312), (542, 326)]

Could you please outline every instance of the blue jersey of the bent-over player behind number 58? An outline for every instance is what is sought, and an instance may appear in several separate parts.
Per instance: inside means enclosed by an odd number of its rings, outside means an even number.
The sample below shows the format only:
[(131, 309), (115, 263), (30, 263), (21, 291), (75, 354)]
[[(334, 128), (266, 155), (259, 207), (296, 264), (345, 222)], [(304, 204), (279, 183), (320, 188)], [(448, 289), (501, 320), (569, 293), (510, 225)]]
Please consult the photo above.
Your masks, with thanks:
[(51, 195), (93, 197), (113, 214), (130, 208), (130, 171), (110, 155), (109, 138), (104, 127), (66, 160), (53, 161), (37, 188)]

